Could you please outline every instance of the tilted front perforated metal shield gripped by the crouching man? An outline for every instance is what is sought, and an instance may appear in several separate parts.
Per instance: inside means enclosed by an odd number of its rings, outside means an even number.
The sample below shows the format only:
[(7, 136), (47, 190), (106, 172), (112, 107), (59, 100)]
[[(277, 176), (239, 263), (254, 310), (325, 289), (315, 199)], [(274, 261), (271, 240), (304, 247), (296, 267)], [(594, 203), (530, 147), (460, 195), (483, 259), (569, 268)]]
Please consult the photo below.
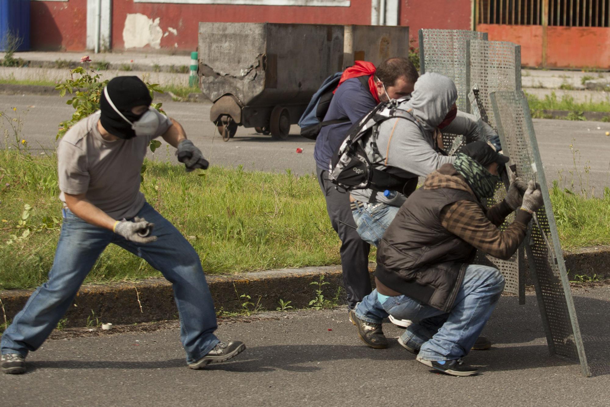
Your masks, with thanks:
[(549, 351), (580, 359), (583, 375), (590, 376), (527, 100), (523, 92), (493, 92), (491, 102), (502, 146), (517, 175), (539, 182), (544, 197), (525, 247)]

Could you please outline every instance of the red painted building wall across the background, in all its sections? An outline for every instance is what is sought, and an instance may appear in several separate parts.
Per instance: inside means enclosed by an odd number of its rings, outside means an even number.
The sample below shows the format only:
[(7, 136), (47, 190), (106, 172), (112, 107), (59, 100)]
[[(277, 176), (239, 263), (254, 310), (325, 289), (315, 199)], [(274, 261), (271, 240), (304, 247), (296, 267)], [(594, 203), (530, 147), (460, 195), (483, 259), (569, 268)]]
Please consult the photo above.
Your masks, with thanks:
[[(411, 38), (415, 40), (420, 28), (470, 29), (471, 4), (471, 0), (401, 0), (399, 23), (411, 28)], [(30, 13), (32, 49), (84, 51), (86, 48), (87, 0), (32, 1)], [(350, 7), (296, 7), (117, 0), (112, 2), (113, 49), (124, 49), (124, 23), (127, 15), (134, 13), (152, 21), (159, 18), (163, 32), (160, 48), (192, 51), (197, 47), (199, 21), (370, 24), (371, 1), (351, 0)]]

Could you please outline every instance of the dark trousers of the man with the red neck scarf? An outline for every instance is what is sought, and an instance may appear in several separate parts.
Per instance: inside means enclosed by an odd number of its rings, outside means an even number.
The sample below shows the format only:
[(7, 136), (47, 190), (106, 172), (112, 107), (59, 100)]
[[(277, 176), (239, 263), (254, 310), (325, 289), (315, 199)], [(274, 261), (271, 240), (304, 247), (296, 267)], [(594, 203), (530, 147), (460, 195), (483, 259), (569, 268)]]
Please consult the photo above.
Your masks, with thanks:
[(350, 193), (335, 189), (328, 179), (328, 171), (316, 167), (318, 183), (326, 198), (326, 210), (331, 219), (332, 228), (341, 239), (341, 267), (343, 268), (343, 286), (347, 291), (350, 309), (362, 301), (372, 291), (371, 278), (368, 273), (368, 251), (370, 245), (361, 239), (356, 231), (356, 222), (350, 207)]

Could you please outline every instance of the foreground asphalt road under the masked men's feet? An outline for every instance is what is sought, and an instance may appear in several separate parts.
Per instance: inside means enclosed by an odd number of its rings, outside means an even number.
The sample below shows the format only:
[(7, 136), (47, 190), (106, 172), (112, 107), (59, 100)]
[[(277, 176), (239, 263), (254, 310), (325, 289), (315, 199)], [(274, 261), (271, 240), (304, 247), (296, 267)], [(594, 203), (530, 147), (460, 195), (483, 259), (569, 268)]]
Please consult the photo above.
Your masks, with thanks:
[[(48, 340), (28, 357), (26, 374), (0, 375), (0, 397), (6, 407), (607, 406), (610, 286), (574, 295), (591, 378), (575, 361), (548, 354), (529, 294), (525, 306), (501, 298), (484, 331), (496, 343), (467, 356), (478, 376), (434, 373), (393, 339), (386, 350), (368, 348), (337, 308), (222, 323), (218, 336), (248, 348), (205, 370), (185, 366), (175, 323), (152, 333)], [(384, 331), (390, 338), (401, 332), (390, 324)]]

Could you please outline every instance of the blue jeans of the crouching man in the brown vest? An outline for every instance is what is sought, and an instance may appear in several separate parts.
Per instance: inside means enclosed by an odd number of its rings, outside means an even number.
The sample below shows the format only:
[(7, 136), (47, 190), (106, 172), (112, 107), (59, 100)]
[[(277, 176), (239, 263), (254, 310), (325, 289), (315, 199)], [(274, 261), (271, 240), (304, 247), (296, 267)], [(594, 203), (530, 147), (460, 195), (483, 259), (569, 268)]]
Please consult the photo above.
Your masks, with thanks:
[(472, 264), (450, 312), (397, 295), (380, 301), (377, 290), (364, 297), (356, 307), (356, 316), (371, 323), (381, 323), (388, 315), (413, 322), (401, 336), (404, 344), (418, 349), (429, 361), (459, 359), (483, 331), (504, 289), (504, 277), (497, 268)]

